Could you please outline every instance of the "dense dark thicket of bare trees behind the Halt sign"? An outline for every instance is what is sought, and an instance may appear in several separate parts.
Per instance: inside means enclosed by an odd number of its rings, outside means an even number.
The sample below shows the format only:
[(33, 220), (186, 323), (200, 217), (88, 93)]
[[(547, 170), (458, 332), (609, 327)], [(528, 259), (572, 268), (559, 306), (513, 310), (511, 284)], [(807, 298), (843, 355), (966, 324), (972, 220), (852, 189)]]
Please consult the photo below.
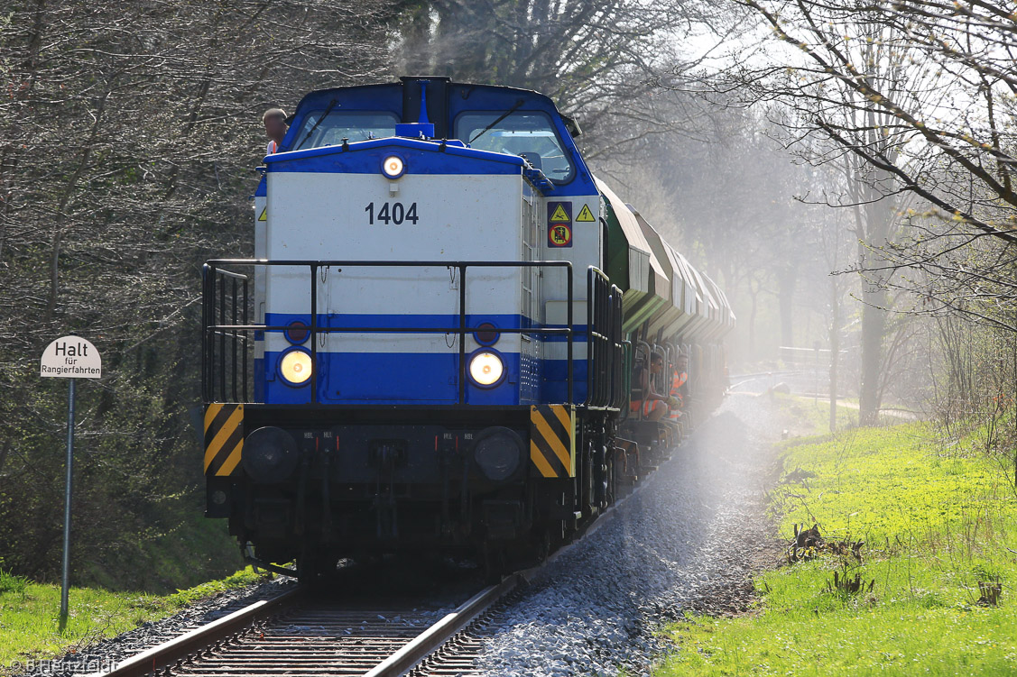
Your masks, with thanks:
[[(384, 74), (396, 8), (25, 0), (6, 10), (0, 552), (22, 572), (56, 569), (62, 390), (40, 382), (36, 360), (51, 338), (80, 332), (107, 375), (80, 389), (75, 552), (116, 569), (192, 522), (200, 263), (250, 252), (259, 114)], [(130, 568), (142, 586), (195, 575)]]

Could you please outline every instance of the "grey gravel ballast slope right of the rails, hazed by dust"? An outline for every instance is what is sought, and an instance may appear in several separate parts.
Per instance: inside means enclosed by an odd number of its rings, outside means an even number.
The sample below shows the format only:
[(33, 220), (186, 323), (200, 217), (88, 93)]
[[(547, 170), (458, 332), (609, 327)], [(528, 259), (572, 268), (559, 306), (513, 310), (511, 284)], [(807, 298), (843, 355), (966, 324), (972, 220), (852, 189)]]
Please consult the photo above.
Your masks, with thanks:
[(744, 612), (752, 575), (783, 553), (764, 504), (779, 437), (767, 398), (729, 396), (493, 620), (479, 659), (485, 673), (649, 675), (673, 650), (655, 634), (668, 620)]

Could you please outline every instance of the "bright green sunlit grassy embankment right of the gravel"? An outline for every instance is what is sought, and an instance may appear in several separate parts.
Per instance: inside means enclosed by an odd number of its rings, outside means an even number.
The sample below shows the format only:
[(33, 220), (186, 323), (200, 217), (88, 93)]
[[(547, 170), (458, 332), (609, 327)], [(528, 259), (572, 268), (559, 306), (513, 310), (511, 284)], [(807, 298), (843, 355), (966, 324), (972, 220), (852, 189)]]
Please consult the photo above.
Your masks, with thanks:
[[(811, 401), (784, 402), (823, 421)], [(756, 612), (673, 625), (656, 674), (1017, 674), (1017, 496), (972, 446), (945, 448), (924, 423), (781, 443), (780, 534), (815, 520), (828, 540), (863, 540), (862, 561), (825, 553), (763, 573)], [(863, 590), (831, 591), (835, 571)], [(979, 601), (997, 582), (999, 604)]]

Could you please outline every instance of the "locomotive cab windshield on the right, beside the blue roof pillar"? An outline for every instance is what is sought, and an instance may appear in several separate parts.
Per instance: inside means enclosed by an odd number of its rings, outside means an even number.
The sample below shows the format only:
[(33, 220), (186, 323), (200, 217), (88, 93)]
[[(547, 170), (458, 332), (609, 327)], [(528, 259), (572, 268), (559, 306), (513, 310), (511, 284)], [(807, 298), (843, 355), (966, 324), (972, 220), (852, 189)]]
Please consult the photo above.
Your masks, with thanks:
[[(573, 165), (546, 113), (518, 111), (463, 113), (456, 119), (456, 138), (480, 150), (524, 156), (552, 181), (567, 182)], [(488, 127), (490, 127), (488, 129)]]

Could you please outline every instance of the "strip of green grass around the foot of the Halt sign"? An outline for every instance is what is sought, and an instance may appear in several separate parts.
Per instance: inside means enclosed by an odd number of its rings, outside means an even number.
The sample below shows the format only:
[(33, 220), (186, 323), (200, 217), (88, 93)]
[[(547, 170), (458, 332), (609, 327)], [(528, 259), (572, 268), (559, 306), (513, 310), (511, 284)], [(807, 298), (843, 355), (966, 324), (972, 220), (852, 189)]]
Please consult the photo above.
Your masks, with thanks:
[(246, 568), (221, 580), (166, 596), (71, 588), (70, 613), (61, 632), (60, 586), (35, 583), (0, 572), (0, 675), (17, 674), (28, 661), (78, 651), (257, 578), (253, 570)]

